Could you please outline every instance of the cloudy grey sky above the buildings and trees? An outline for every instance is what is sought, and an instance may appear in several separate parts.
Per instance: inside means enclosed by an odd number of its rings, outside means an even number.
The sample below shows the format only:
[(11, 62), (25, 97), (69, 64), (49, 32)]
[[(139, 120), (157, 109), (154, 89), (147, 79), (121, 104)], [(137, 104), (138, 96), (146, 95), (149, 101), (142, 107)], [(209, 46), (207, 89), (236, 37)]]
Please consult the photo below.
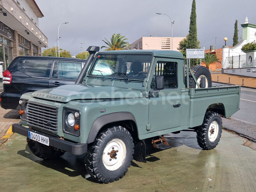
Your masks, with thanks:
[[(116, 33), (127, 38), (132, 44), (141, 37), (186, 37), (192, 0), (36, 0), (44, 14), (39, 18), (39, 28), (48, 38), (49, 47), (55, 46), (59, 29), (60, 48), (72, 56), (84, 51), (86, 46), (106, 45), (102, 40)], [(238, 20), (238, 30), (245, 18), (256, 24), (255, 0), (196, 0), (197, 38), (201, 48), (221, 48), (228, 38), (232, 46), (234, 25)], [(238, 32), (240, 40), (240, 32)], [(216, 46), (215, 46), (216, 40)], [(57, 41), (58, 45), (58, 41)], [(101, 50), (104, 50), (101, 49)]]

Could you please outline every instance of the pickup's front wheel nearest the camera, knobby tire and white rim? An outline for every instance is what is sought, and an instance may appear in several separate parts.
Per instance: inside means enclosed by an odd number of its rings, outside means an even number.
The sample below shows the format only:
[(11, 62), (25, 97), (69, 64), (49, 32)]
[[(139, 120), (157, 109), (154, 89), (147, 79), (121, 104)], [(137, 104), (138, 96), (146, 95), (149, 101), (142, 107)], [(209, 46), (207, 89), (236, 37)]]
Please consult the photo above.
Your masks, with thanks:
[[(111, 156), (114, 150), (117, 150), (117, 159)], [(128, 167), (131, 166), (133, 153), (134, 143), (131, 133), (122, 126), (113, 126), (102, 131), (93, 145), (88, 147), (84, 158), (85, 167), (92, 178), (100, 183), (117, 181), (124, 177)]]

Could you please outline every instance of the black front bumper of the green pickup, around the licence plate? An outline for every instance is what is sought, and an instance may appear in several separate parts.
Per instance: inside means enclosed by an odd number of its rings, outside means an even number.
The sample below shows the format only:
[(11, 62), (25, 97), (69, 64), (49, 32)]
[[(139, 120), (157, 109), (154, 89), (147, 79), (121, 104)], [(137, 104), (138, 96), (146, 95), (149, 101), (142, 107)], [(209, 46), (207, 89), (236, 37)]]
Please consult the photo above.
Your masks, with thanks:
[(71, 141), (62, 140), (52, 135), (45, 134), (43, 132), (34, 131), (27, 127), (21, 126), (21, 124), (12, 124), (12, 132), (19, 133), (25, 137), (28, 137), (28, 132), (35, 132), (49, 138), (49, 145), (55, 148), (68, 151), (74, 155), (82, 155), (87, 152), (87, 143), (73, 143)]

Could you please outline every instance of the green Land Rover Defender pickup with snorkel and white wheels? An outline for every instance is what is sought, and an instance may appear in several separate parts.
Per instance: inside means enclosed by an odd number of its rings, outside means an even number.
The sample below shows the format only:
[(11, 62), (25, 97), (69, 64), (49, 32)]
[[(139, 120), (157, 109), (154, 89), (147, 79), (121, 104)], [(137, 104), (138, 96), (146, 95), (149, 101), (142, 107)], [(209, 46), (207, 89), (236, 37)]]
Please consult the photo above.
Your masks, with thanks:
[(43, 159), (85, 154), (86, 169), (99, 182), (122, 178), (133, 159), (146, 162), (148, 138), (166, 149), (164, 134), (192, 129), (201, 148), (215, 148), (221, 117), (239, 109), (240, 86), (212, 87), (209, 70), (186, 68), (180, 52), (87, 51), (76, 84), (21, 96), (21, 124), (12, 131)]

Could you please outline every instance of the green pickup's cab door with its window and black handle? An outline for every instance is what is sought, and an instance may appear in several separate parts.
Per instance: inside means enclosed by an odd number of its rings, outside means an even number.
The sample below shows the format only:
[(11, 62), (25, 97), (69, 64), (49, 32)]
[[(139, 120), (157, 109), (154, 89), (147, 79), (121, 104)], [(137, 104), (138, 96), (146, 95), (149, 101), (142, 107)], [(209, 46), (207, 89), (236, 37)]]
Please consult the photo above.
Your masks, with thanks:
[[(178, 84), (178, 63), (177, 59), (159, 58), (156, 60), (154, 76), (164, 76), (164, 89), (152, 93), (149, 96), (148, 132), (157, 132), (181, 126), (182, 122), (182, 95)], [(154, 77), (150, 85), (152, 91), (156, 91)], [(149, 89), (149, 90), (150, 90)]]

